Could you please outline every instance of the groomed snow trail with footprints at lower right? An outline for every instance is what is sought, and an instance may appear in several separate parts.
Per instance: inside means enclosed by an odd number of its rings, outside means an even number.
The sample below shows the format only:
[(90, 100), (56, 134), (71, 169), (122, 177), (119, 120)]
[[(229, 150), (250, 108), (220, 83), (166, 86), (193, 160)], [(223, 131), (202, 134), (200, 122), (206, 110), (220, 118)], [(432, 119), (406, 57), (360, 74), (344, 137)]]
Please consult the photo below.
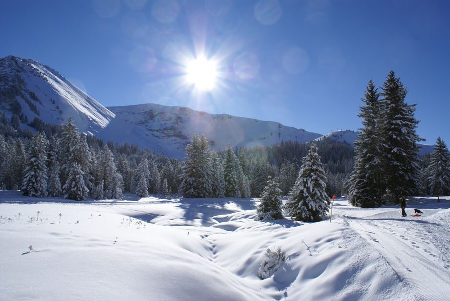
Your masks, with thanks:
[[(424, 300), (446, 301), (450, 292), (450, 276), (447, 269), (432, 261), (420, 245), (408, 239), (406, 231), (396, 233), (395, 228), (405, 229), (404, 222), (346, 218), (349, 226), (364, 237), (389, 262), (395, 272), (417, 290)], [(426, 227), (415, 225), (416, 232), (425, 232)], [(419, 228), (419, 229), (417, 229)], [(397, 230), (395, 229), (395, 230)], [(399, 235), (396, 237), (396, 235)], [(428, 242), (425, 242), (428, 243)]]

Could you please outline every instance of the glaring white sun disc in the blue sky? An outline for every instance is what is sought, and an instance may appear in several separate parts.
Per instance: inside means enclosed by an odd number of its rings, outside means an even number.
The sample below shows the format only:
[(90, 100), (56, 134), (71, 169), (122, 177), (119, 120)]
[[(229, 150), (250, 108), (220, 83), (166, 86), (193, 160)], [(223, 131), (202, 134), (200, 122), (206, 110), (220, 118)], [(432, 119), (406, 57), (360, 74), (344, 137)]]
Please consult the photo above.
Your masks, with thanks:
[(217, 66), (212, 60), (196, 58), (187, 64), (186, 75), (187, 81), (196, 89), (210, 91), (216, 82)]

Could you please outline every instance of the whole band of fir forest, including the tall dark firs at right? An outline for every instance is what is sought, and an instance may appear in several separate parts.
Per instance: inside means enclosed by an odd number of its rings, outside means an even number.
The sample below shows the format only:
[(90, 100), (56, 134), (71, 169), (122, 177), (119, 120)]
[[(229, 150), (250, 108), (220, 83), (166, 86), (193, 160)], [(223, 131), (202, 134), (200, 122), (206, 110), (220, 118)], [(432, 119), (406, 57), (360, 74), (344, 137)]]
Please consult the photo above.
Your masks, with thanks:
[[(391, 72), (381, 90), (369, 82), (355, 149), (329, 139), (314, 143), (325, 194), (348, 194), (361, 207), (395, 203), (408, 195), (450, 194), (444, 141), (438, 138), (434, 152), (420, 158), (415, 105), (405, 102), (407, 89)], [(195, 134), (180, 163), (127, 143), (105, 144), (79, 133), (71, 119), (62, 126), (35, 119), (30, 123), (37, 129), (34, 134), (13, 128), (12, 121), (0, 114), (0, 188), (35, 197), (121, 199), (131, 192), (139, 197), (249, 198), (261, 197), (268, 179), (289, 197), (311, 150), (311, 143), (283, 141), (252, 148), (229, 145), (214, 152), (205, 136)]]

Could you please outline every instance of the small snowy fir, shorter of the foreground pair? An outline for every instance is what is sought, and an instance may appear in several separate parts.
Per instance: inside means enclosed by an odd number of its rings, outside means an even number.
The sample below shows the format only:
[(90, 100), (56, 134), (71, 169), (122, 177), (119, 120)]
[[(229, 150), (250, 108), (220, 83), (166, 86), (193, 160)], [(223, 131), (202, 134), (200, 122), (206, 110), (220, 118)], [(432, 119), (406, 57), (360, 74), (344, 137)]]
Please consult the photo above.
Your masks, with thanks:
[(256, 209), (257, 220), (267, 222), (283, 218), (281, 192), (280, 184), (269, 176), (266, 187), (261, 193), (261, 203)]

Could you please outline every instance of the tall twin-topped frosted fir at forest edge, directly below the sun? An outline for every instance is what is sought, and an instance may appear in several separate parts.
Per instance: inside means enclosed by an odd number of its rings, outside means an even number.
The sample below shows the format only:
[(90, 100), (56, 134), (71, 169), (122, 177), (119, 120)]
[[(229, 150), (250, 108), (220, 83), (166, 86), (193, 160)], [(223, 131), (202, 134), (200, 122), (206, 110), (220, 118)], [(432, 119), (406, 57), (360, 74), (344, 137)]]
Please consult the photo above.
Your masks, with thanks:
[(180, 190), (186, 198), (209, 198), (212, 194), (213, 171), (206, 137), (192, 136), (186, 146), (186, 160), (182, 167)]

